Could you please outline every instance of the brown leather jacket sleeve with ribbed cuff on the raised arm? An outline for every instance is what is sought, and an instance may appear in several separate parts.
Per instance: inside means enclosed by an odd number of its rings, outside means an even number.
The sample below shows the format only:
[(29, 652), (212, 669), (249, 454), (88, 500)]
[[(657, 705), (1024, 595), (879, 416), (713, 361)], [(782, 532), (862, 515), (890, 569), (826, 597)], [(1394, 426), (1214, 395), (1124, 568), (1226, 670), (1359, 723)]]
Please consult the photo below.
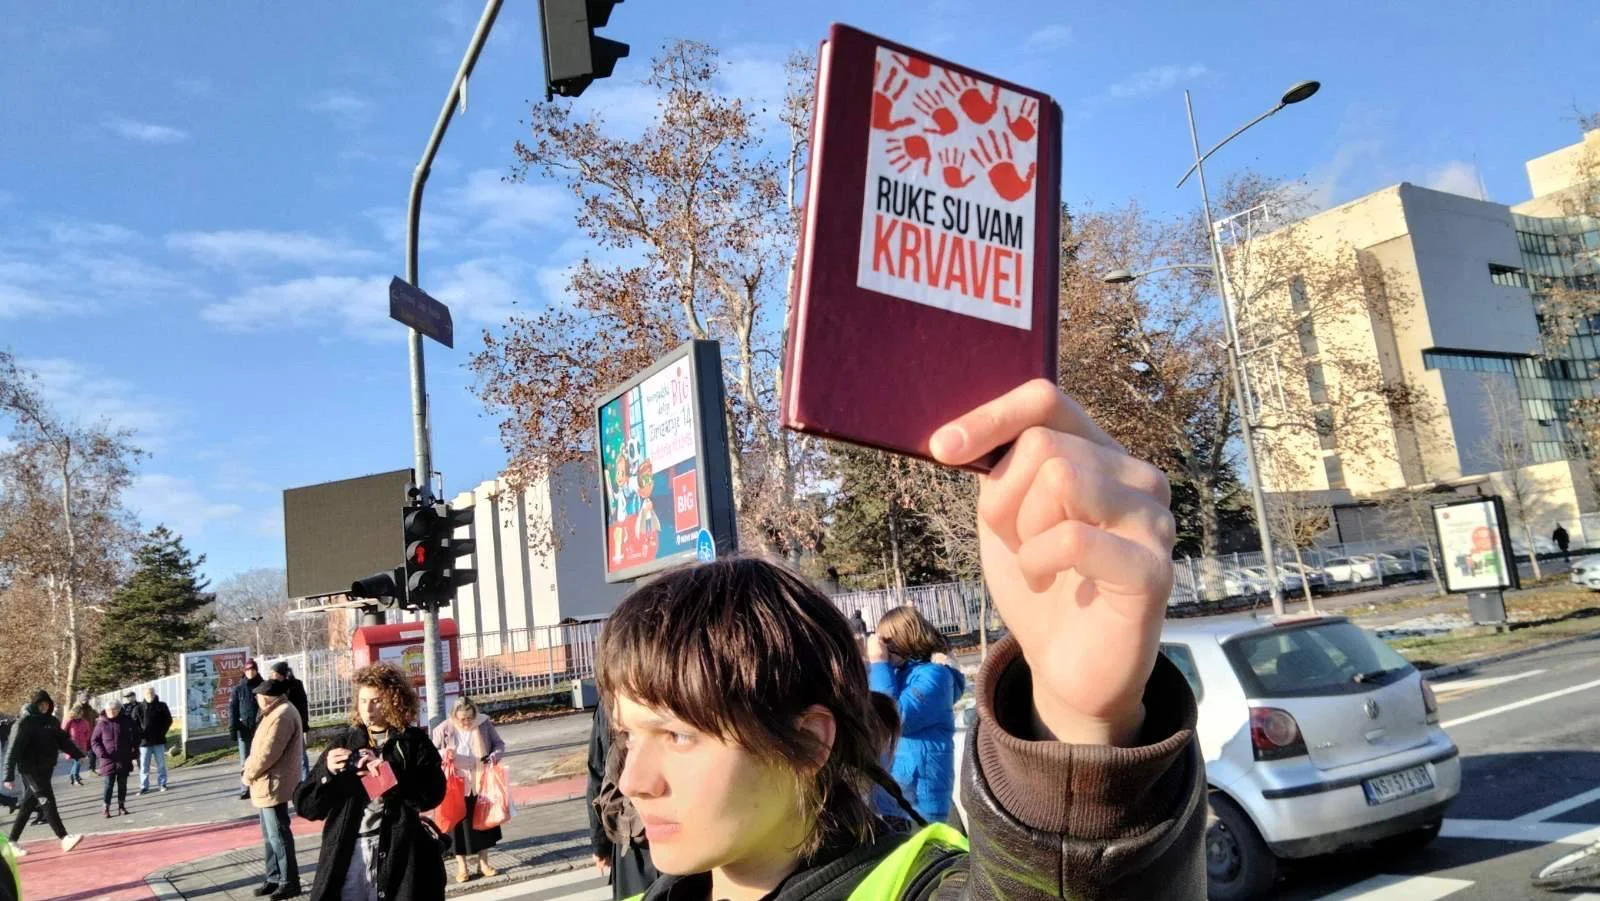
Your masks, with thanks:
[(974, 898), (1205, 898), (1205, 765), (1195, 703), (1158, 658), (1136, 747), (1030, 741), (1032, 675), (1014, 640), (978, 675), (962, 800)]

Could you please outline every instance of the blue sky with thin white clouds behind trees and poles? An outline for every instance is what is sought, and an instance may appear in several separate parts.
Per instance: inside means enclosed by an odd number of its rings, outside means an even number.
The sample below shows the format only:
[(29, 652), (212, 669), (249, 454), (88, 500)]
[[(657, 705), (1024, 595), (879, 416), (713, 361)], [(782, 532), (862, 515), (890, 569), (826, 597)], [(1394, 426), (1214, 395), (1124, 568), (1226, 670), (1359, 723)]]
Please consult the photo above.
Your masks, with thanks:
[[(664, 40), (718, 46), (728, 82), (781, 93), (781, 61), (845, 21), (1054, 94), (1064, 197), (1192, 203), (1182, 88), (1202, 139), (1291, 82), (1323, 91), (1224, 150), (1216, 174), (1304, 178), (1326, 203), (1413, 181), (1526, 197), (1522, 163), (1600, 109), (1592, 0), (646, 2), (606, 34), (634, 56), (579, 101), (622, 126)], [(509, 0), (424, 205), (422, 286), (458, 344), (429, 344), (446, 488), (501, 466), (464, 365), (485, 326), (562, 302), (584, 253), (568, 195), (506, 186), (542, 99), (531, 0)], [(403, 266), (411, 166), (477, 3), (10, 3), (0, 22), (0, 346), (78, 416), (139, 432), (130, 503), (210, 557), (282, 565), (282, 490), (410, 466)], [(1192, 190), (1192, 189), (1190, 189)]]

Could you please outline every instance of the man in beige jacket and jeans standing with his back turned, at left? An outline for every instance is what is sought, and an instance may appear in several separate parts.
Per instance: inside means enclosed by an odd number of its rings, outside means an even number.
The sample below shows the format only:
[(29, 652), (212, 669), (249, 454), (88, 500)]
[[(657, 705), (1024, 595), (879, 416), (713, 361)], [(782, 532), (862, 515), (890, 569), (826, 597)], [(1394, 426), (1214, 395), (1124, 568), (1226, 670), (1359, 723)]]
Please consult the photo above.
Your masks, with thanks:
[(267, 845), (267, 880), (256, 888), (256, 896), (270, 896), (270, 901), (301, 893), (294, 834), (290, 832), (290, 800), (301, 783), (306, 725), (294, 704), (288, 703), (288, 682), (272, 679), (256, 687), (261, 719), (240, 779), (250, 789), (250, 802), (261, 811), (261, 837)]

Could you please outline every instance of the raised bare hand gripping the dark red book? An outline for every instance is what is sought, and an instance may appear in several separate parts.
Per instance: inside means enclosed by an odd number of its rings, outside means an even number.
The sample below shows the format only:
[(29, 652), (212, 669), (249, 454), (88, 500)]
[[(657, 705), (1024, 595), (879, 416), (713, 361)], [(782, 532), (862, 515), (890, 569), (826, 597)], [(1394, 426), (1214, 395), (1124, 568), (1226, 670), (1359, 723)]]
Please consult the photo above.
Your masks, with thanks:
[(979, 479), (984, 579), (1032, 669), (1056, 741), (1131, 744), (1173, 587), (1166, 475), (1032, 381), (939, 429), (939, 463), (1011, 445)]

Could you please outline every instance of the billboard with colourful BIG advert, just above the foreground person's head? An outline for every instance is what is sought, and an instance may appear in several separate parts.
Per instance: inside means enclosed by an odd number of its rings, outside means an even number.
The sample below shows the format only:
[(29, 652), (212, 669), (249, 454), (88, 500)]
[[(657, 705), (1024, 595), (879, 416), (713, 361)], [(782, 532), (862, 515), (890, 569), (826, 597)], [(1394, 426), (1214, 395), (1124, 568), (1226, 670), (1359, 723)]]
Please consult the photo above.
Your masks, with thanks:
[(691, 341), (608, 392), (594, 422), (608, 583), (704, 557), (702, 544), (738, 547), (715, 341)]

